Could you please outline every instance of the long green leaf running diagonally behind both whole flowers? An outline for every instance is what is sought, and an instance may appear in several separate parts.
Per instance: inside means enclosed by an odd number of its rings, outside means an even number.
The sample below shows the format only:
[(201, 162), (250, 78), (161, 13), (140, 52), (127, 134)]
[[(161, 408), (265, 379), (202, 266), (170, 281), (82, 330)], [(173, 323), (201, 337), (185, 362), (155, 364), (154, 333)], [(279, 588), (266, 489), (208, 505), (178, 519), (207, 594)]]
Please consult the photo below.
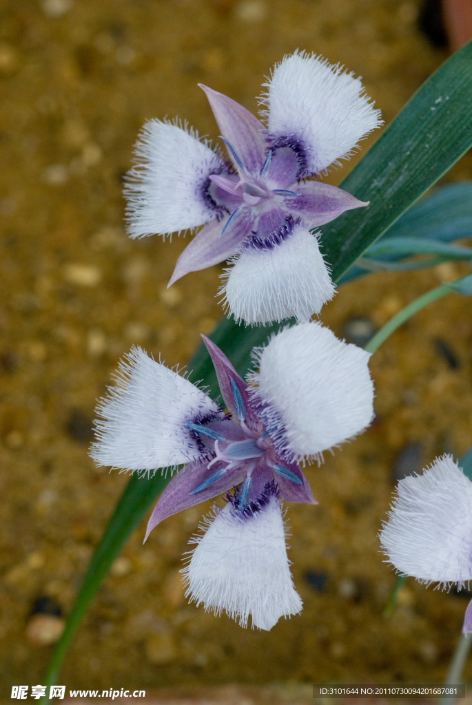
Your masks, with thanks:
[[(323, 251), (335, 281), (472, 143), (472, 42), (466, 44), (420, 88), (380, 140), (341, 187), (370, 207), (350, 211), (323, 228)], [(250, 349), (272, 328), (245, 329), (232, 321), (218, 324), (212, 339), (222, 345), (238, 369), (249, 366)], [(207, 358), (197, 353), (193, 379), (212, 384)], [(102, 541), (92, 556), (63, 637), (47, 671), (53, 682), (75, 629), (109, 566), (166, 480), (131, 478)]]

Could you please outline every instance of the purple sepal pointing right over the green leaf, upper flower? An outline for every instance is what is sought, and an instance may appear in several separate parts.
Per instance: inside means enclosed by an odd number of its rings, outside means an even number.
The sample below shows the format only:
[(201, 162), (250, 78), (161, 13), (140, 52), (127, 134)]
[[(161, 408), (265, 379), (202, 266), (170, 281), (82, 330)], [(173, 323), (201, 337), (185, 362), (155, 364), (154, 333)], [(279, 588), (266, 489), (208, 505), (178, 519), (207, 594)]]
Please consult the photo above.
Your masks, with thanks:
[(294, 216), (303, 217), (310, 227), (329, 223), (352, 208), (368, 206), (368, 202), (359, 201), (341, 188), (319, 181), (299, 183), (294, 190), (300, 195), (286, 197), (286, 209)]

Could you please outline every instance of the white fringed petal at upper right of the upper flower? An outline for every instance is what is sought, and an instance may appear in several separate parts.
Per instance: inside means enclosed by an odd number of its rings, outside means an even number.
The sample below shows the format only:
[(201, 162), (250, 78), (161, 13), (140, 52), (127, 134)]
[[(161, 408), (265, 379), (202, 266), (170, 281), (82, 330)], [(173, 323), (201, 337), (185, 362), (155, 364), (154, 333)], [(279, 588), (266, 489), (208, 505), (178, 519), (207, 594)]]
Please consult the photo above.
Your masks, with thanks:
[(286, 56), (264, 85), (270, 133), (301, 140), (310, 173), (348, 157), (358, 140), (382, 124), (361, 80), (315, 54)]

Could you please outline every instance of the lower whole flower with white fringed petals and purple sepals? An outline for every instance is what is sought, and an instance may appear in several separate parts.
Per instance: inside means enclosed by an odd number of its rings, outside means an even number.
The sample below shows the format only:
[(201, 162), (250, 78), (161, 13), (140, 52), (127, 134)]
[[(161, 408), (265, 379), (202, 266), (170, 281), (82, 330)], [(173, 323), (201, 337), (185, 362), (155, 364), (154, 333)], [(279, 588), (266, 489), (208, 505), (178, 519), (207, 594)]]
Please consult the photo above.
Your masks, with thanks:
[(301, 610), (286, 556), (282, 500), (315, 503), (300, 462), (360, 433), (373, 417), (370, 355), (318, 323), (298, 324), (255, 350), (244, 381), (210, 353), (224, 408), (140, 348), (101, 401), (92, 457), (155, 472), (184, 464), (147, 525), (224, 493), (184, 569), (188, 594), (215, 613), (268, 630)]

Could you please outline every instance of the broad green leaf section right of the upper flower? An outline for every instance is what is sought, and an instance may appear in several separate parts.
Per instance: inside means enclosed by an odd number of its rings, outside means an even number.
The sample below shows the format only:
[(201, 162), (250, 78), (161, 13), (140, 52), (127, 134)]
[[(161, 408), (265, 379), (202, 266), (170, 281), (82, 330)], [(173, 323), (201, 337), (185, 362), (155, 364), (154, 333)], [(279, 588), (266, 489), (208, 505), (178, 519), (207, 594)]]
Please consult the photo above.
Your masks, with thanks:
[(339, 279), (472, 145), (472, 42), (440, 66), (341, 183), (367, 208), (322, 228)]

